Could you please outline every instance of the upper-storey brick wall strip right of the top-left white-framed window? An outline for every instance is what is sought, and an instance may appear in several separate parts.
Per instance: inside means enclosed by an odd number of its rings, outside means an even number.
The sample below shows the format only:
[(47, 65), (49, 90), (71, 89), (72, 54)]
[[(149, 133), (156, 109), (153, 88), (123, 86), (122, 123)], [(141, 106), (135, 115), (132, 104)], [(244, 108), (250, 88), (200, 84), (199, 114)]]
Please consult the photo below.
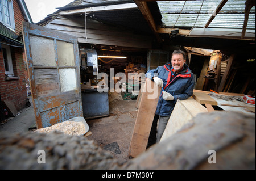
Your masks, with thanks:
[(19, 33), (22, 32), (22, 21), (25, 19), (17, 0), (13, 1), (13, 10), (15, 19), (15, 31), (19, 35)]

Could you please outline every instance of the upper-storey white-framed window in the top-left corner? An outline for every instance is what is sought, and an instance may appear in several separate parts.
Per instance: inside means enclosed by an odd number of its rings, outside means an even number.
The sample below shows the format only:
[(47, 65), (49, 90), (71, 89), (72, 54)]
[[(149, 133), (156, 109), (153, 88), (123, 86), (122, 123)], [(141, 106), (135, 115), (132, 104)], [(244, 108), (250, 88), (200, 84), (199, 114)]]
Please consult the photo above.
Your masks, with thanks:
[(13, 0), (0, 0), (0, 22), (15, 30)]

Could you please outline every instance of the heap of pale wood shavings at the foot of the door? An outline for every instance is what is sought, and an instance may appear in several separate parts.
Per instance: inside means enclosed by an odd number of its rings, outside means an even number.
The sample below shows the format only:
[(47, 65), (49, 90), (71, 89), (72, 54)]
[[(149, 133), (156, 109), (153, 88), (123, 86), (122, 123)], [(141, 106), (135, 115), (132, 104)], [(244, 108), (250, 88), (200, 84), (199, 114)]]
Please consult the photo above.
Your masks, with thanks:
[(35, 132), (49, 133), (54, 130), (61, 131), (68, 135), (81, 135), (85, 133), (85, 126), (82, 122), (64, 121), (63, 123), (57, 123), (51, 127), (40, 128)]

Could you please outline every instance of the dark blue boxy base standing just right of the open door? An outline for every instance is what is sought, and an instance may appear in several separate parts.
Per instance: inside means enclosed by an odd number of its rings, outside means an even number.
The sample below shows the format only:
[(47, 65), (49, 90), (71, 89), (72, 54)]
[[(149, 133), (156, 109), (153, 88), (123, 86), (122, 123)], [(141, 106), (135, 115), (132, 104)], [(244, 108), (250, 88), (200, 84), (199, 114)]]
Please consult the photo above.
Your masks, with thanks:
[(85, 120), (109, 116), (109, 89), (82, 89), (82, 110)]

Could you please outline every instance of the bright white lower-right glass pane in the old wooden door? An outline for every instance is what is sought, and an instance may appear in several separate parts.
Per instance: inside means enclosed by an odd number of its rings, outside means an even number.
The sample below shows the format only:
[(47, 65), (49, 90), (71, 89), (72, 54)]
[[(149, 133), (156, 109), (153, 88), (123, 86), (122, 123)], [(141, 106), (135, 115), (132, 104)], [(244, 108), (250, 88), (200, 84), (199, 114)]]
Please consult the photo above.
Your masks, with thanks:
[(76, 90), (76, 69), (60, 69), (61, 92)]

